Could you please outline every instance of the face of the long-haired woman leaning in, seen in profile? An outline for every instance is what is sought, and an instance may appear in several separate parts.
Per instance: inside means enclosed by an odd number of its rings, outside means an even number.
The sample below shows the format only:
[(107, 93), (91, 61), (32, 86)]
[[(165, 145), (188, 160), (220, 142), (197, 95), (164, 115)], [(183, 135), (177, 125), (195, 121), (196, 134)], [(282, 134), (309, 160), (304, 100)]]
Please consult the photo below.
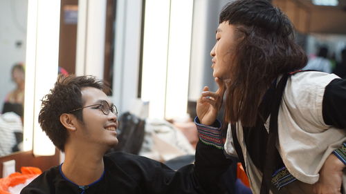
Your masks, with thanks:
[(214, 48), (210, 52), (212, 57), (213, 77), (219, 79), (230, 79), (230, 71), (235, 59), (235, 47), (237, 39), (235, 35), (235, 26), (224, 21), (219, 24), (216, 31), (216, 40)]

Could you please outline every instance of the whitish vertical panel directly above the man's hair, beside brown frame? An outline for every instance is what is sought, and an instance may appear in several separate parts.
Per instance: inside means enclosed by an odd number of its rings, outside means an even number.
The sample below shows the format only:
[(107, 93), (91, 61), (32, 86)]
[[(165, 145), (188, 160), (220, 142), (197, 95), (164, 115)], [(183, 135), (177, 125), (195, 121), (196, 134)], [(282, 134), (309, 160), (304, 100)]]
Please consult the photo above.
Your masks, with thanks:
[(106, 0), (79, 1), (76, 74), (103, 78)]

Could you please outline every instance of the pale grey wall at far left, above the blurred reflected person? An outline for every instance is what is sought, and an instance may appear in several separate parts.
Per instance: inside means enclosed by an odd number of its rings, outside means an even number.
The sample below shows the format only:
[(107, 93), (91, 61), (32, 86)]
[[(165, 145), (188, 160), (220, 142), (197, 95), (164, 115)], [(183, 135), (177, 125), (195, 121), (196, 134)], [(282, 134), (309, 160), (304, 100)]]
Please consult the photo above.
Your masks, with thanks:
[(28, 0), (0, 0), (0, 111), (6, 94), (15, 88), (12, 65), (25, 62), (27, 13)]

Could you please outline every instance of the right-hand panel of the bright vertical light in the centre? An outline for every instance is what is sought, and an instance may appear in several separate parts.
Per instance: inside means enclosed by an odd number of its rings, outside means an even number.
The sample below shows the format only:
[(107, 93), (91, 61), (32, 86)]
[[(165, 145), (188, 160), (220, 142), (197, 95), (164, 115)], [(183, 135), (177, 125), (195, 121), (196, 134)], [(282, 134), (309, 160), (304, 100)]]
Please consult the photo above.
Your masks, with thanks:
[(170, 8), (165, 117), (184, 117), (188, 106), (193, 0), (174, 0)]

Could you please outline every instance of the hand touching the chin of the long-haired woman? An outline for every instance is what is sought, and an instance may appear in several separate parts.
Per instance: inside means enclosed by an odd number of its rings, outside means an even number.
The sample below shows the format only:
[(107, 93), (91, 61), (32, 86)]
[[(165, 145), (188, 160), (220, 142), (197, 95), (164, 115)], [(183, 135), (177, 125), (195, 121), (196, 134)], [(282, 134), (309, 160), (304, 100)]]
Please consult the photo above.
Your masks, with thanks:
[(201, 97), (197, 100), (197, 117), (199, 118), (199, 122), (204, 125), (211, 125), (215, 122), (226, 90), (224, 81), (218, 77), (215, 78), (215, 81), (217, 82), (219, 89), (213, 93), (209, 91), (208, 86), (205, 86)]

